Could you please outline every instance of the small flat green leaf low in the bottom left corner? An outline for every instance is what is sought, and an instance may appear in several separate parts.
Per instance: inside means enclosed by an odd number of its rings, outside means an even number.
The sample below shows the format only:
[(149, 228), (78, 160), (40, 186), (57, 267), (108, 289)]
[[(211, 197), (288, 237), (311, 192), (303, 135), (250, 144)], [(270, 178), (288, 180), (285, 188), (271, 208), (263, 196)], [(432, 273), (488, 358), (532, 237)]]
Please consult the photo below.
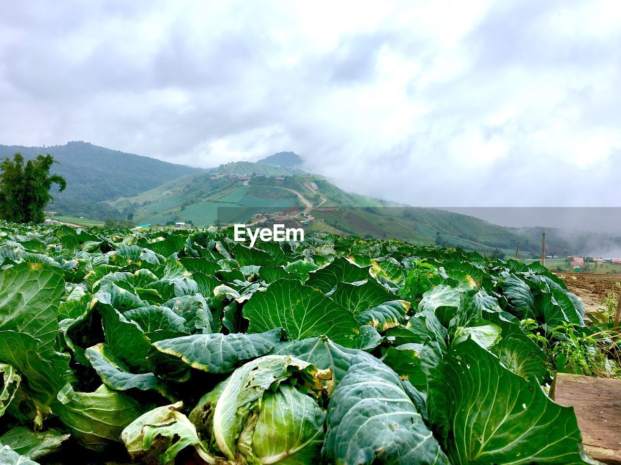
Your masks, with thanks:
[(35, 432), (29, 427), (17, 426), (0, 436), (0, 444), (9, 446), (18, 454), (35, 460), (51, 454), (69, 438), (58, 430)]

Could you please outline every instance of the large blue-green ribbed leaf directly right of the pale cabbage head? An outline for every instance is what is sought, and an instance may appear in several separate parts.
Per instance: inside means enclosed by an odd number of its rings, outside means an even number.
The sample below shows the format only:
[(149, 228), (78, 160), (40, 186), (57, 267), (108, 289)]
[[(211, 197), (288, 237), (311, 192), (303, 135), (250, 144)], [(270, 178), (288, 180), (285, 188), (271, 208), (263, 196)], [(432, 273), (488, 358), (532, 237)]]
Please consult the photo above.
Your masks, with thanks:
[(323, 451), (336, 465), (448, 465), (401, 379), (379, 360), (353, 360), (326, 419)]

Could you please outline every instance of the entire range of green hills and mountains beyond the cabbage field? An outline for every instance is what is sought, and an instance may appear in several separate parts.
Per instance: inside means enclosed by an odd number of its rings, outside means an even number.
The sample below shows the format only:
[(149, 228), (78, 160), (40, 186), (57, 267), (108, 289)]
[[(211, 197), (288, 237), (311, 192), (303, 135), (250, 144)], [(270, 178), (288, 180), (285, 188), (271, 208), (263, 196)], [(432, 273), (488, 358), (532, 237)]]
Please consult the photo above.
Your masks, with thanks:
[[(522, 257), (538, 257), (543, 231), (548, 234), (546, 246), (551, 254), (589, 254), (589, 244), (595, 240), (607, 244), (609, 250), (621, 249), (617, 236), (504, 228), (473, 216), (345, 192), (324, 177), (284, 166), (297, 162), (292, 152), (257, 163), (230, 162), (200, 170), (83, 142), (47, 148), (0, 146), (0, 156), (18, 151), (27, 159), (50, 153), (60, 161), (53, 172), (66, 178), (68, 188), (55, 193), (50, 208), (77, 218), (208, 226), (247, 221), (262, 212), (311, 210), (311, 216), (324, 220), (308, 225), (312, 231), (458, 246), (499, 257), (512, 256), (517, 242)], [(288, 221), (298, 224), (302, 218)]]

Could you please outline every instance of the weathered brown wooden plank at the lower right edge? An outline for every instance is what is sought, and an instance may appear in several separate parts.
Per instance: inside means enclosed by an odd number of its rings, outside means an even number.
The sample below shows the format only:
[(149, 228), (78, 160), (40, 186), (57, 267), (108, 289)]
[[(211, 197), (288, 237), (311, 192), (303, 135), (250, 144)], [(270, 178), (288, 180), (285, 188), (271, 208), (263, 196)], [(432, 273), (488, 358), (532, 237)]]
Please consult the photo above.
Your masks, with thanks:
[(574, 407), (584, 449), (592, 458), (621, 465), (621, 379), (558, 373), (550, 397)]

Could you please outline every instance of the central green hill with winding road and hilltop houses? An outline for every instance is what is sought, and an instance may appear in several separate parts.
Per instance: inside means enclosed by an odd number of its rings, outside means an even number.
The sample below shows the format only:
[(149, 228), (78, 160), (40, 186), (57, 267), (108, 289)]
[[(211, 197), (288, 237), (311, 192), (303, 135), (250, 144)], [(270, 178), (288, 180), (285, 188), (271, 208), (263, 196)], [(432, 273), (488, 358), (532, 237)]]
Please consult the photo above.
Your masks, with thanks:
[[(261, 176), (261, 167), (276, 169), (276, 175)], [(223, 169), (225, 168), (225, 169)], [(247, 184), (215, 172), (256, 173)], [(285, 173), (289, 172), (289, 175)], [(134, 197), (118, 198), (108, 205), (134, 213), (137, 223), (170, 224), (176, 221), (196, 226), (248, 220), (255, 213), (306, 208), (301, 195), (312, 205), (312, 215), (323, 219), (310, 227), (361, 237), (395, 238), (415, 244), (459, 246), (488, 254), (512, 254), (519, 241), (522, 255), (538, 254), (539, 244), (509, 228), (502, 228), (472, 216), (433, 208), (389, 203), (348, 193), (322, 177), (292, 174), (290, 169), (261, 166), (251, 162), (230, 163), (214, 173), (191, 174)], [(283, 175), (284, 174), (284, 175)], [(312, 188), (311, 184), (317, 185)], [(298, 220), (302, 218), (298, 217)]]

